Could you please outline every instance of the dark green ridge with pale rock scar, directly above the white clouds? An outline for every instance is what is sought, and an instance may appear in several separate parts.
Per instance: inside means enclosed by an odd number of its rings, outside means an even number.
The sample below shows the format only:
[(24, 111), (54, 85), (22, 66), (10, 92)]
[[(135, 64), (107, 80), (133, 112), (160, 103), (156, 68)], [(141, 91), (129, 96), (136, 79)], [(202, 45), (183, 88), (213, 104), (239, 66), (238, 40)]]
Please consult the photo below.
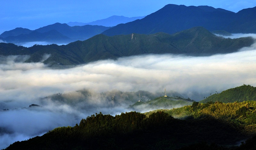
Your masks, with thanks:
[(34, 45), (26, 48), (11, 43), (0, 43), (0, 55), (30, 55), (26, 62), (40, 62), (45, 54), (51, 56), (44, 61), (52, 65), (77, 65), (102, 59), (117, 59), (139, 54), (186, 54), (212, 55), (230, 53), (250, 46), (252, 37), (226, 39), (215, 36), (203, 27), (190, 28), (175, 34), (152, 35), (130, 34), (121, 36), (97, 35), (85, 41), (67, 45)]

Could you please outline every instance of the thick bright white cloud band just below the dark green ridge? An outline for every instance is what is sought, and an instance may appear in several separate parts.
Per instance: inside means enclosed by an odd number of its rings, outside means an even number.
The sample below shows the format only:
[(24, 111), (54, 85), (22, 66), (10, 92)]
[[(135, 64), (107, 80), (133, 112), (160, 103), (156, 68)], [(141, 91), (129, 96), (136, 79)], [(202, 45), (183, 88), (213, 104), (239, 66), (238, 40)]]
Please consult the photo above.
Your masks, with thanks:
[(33, 101), (80, 89), (155, 92), (166, 88), (207, 96), (211, 90), (220, 92), (244, 83), (255, 85), (255, 52), (247, 50), (207, 57), (141, 55), (68, 69), (8, 59), (0, 65), (0, 101)]

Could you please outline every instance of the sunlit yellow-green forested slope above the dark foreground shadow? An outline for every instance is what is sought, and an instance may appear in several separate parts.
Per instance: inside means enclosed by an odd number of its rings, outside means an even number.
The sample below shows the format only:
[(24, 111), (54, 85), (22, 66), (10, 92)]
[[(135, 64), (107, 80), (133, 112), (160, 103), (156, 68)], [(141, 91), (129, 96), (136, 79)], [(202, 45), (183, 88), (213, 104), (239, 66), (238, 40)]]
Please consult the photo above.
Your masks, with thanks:
[[(175, 118), (204, 118), (211, 116), (215, 119), (224, 119), (230, 122), (234, 122), (238, 126), (244, 128), (249, 127), (256, 129), (256, 101), (243, 101), (233, 103), (222, 102), (207, 102), (198, 103), (193, 102), (191, 106), (184, 106), (173, 109), (161, 109), (145, 113), (146, 116), (157, 112), (164, 111)], [(256, 130), (253, 131), (256, 134)]]

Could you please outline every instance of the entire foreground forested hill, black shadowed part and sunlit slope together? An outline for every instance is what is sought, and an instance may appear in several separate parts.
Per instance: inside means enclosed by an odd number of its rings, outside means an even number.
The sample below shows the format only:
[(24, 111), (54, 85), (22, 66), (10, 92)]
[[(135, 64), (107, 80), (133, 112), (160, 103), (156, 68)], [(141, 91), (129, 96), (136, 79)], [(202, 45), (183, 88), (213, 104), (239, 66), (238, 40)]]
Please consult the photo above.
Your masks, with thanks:
[[(59, 127), (6, 149), (241, 149), (255, 146), (255, 108), (256, 101), (193, 102), (145, 114), (99, 113), (74, 127)], [(248, 138), (252, 139), (244, 143)], [(241, 141), (241, 147), (235, 146)]]

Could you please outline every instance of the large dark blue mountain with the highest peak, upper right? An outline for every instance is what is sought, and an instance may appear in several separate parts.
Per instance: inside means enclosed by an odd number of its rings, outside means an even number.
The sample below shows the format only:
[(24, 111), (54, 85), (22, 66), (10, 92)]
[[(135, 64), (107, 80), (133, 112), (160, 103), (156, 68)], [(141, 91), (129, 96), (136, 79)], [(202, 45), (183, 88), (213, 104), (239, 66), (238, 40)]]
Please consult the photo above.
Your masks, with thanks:
[(229, 33), (256, 33), (256, 7), (237, 13), (210, 6), (168, 4), (143, 19), (119, 24), (104, 31), (107, 36), (132, 33), (173, 34), (188, 28), (202, 26), (209, 31), (225, 30)]

